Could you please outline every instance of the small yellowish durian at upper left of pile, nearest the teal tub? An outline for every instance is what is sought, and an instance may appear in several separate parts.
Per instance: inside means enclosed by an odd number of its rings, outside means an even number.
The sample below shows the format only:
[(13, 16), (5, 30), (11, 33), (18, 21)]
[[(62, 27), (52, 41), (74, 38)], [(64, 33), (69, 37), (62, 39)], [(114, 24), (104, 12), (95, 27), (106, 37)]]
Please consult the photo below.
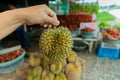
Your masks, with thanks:
[(35, 66), (40, 65), (41, 60), (40, 60), (40, 58), (37, 57), (37, 56), (30, 55), (30, 57), (29, 57), (29, 63), (30, 63), (30, 65), (31, 65), (32, 67), (35, 67)]

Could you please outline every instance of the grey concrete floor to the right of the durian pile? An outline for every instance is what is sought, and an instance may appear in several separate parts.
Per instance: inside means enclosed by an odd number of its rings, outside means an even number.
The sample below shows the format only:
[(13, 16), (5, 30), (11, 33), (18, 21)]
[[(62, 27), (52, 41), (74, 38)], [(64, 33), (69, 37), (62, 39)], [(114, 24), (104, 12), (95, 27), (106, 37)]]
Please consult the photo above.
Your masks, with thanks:
[(120, 80), (120, 60), (99, 58), (95, 53), (78, 53), (86, 61), (83, 80)]

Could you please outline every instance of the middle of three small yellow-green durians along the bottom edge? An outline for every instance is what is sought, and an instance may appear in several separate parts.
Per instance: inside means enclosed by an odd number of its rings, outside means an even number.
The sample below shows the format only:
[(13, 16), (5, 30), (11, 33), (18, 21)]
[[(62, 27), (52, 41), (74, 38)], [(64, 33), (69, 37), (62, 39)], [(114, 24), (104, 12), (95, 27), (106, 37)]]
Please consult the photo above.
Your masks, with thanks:
[(48, 70), (42, 72), (42, 77), (40, 80), (54, 80), (55, 75)]

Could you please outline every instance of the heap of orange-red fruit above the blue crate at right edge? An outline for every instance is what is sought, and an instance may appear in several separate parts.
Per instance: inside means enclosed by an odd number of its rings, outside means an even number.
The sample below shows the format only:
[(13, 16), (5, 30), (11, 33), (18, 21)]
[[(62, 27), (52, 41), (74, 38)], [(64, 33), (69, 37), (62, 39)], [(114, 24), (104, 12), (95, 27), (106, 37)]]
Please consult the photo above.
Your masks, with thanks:
[(120, 32), (116, 28), (107, 28), (105, 30), (101, 31), (103, 37), (108, 38), (108, 39), (120, 39)]

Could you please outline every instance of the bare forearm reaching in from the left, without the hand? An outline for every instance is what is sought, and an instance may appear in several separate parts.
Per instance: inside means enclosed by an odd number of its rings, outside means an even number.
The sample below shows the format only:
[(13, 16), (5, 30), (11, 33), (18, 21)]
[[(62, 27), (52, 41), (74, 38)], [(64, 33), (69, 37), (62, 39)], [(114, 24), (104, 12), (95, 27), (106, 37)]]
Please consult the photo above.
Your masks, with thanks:
[(25, 23), (24, 14), (21, 9), (0, 13), (0, 40)]

